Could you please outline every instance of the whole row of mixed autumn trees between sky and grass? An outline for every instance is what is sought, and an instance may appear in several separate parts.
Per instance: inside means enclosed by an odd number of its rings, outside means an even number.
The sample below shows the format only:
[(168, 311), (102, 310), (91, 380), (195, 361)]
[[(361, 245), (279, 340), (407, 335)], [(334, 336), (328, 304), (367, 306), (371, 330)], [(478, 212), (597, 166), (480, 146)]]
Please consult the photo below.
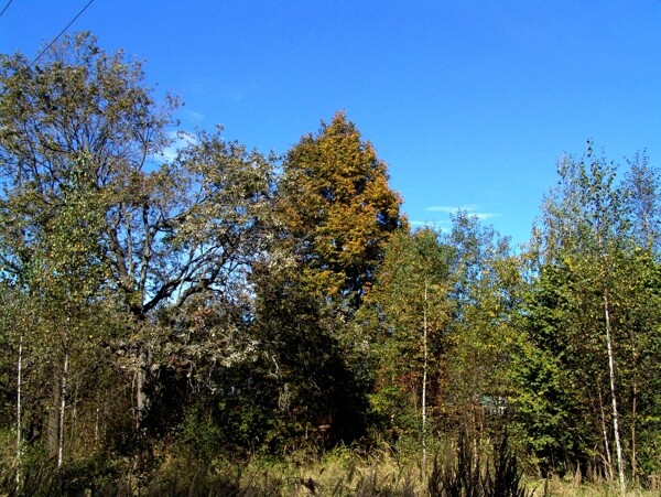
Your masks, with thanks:
[(37, 463), (149, 473), (177, 452), (386, 444), (424, 466), (435, 440), (501, 425), (533, 473), (661, 472), (644, 154), (564, 156), (514, 250), (465, 212), (412, 231), (344, 112), (283, 156), (180, 130), (170, 158), (178, 105), (87, 33), (39, 64), (0, 56), (0, 464), (18, 488)]

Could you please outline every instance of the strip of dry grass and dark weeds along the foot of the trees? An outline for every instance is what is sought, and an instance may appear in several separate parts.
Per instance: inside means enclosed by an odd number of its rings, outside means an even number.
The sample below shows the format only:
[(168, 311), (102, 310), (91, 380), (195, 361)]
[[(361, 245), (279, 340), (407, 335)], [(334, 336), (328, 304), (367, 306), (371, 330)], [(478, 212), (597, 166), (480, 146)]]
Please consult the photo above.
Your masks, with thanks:
[[(171, 447), (173, 449), (173, 447)], [(202, 460), (184, 446), (158, 451), (149, 471), (130, 458), (102, 456), (57, 471), (41, 460), (23, 468), (20, 491), (15, 473), (0, 478), (0, 496), (430, 496), (545, 497), (620, 496), (615, 480), (590, 479), (579, 471), (546, 478), (524, 474), (507, 439), (490, 443), (463, 435), (430, 444), (426, 467), (420, 451), (382, 444), (369, 452), (339, 446), (328, 452), (299, 449), (278, 456), (253, 454)], [(6, 467), (6, 469), (8, 469)], [(660, 495), (659, 482), (631, 486), (625, 495)]]

